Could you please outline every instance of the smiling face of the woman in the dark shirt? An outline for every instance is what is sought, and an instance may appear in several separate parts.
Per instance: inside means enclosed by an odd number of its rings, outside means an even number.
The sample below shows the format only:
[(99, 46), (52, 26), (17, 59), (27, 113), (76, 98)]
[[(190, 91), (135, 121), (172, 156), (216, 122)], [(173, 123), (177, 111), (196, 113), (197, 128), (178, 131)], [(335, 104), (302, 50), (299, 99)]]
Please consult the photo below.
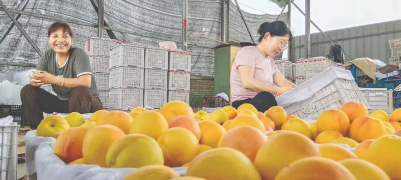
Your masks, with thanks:
[(59, 28), (48, 37), (50, 47), (58, 54), (68, 54), (74, 39), (64, 29)]

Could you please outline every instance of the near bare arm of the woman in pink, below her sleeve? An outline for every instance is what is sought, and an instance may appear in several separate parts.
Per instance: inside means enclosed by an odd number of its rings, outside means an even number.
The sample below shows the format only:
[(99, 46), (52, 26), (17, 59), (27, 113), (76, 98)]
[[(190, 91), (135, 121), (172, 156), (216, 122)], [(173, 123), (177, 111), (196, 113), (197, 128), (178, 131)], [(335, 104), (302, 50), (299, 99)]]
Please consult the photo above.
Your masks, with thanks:
[(250, 66), (242, 65), (238, 67), (238, 71), (240, 72), (241, 77), (241, 84), (245, 89), (254, 92), (262, 92), (267, 91), (272, 93), (273, 95), (277, 94), (278, 88), (264, 84), (256, 79), (253, 78), (254, 76), (254, 69)]

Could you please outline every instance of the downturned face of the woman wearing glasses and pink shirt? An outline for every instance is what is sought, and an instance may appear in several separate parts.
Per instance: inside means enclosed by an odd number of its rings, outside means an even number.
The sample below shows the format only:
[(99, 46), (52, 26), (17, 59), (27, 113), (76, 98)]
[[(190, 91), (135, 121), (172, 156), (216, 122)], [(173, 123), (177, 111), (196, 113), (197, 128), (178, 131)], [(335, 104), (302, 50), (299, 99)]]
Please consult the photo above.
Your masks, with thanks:
[(289, 39), (289, 35), (271, 36), (270, 33), (266, 33), (261, 41), (263, 51), (273, 58), (286, 49)]

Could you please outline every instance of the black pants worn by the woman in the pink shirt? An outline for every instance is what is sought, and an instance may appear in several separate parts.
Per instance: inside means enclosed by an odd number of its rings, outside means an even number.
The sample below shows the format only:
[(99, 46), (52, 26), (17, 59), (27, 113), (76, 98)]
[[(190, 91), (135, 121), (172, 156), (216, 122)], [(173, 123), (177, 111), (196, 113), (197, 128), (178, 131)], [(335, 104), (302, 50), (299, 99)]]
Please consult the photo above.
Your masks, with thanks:
[(276, 97), (272, 93), (266, 91), (258, 93), (254, 98), (234, 101), (232, 105), (237, 109), (239, 106), (245, 103), (254, 105), (255, 108), (260, 112), (265, 112), (270, 107), (277, 106)]

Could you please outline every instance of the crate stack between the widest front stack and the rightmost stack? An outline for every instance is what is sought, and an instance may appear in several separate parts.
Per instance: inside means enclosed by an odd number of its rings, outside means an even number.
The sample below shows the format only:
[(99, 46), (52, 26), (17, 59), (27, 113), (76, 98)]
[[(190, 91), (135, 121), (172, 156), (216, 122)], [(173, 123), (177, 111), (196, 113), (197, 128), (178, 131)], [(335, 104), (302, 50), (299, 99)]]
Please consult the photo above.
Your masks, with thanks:
[(143, 105), (160, 108), (167, 102), (168, 51), (145, 49), (145, 81)]

